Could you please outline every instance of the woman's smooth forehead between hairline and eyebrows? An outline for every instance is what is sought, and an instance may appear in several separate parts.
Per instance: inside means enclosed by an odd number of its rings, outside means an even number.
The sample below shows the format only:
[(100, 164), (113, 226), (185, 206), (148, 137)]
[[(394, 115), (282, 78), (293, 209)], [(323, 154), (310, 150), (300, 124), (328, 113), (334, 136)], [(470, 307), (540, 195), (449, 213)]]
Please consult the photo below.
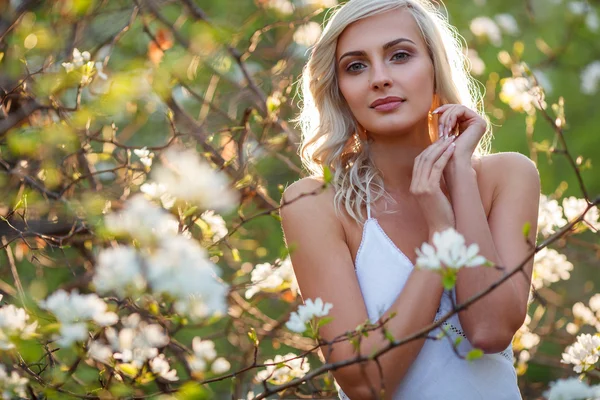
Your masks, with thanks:
[(363, 18), (348, 25), (338, 38), (336, 55), (353, 50), (381, 48), (398, 38), (407, 38), (425, 47), (421, 30), (410, 11), (400, 8)]

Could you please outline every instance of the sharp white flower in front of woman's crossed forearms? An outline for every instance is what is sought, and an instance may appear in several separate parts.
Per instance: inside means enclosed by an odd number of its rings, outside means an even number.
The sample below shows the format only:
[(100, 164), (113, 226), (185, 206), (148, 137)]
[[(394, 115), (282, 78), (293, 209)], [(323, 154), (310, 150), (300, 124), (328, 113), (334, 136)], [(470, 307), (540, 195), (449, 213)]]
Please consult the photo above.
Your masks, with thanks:
[(479, 246), (476, 243), (465, 245), (465, 238), (453, 228), (433, 234), (433, 245), (423, 243), (421, 249), (416, 249), (417, 266), (420, 268), (459, 269), (462, 267), (476, 267), (486, 262), (483, 256), (478, 255)]

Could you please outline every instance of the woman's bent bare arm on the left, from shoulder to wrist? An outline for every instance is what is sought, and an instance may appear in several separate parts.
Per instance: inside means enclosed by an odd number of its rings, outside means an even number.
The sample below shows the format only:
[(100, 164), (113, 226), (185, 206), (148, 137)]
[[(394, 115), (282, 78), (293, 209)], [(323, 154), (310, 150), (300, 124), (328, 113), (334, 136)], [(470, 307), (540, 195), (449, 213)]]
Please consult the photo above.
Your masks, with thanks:
[[(316, 180), (303, 179), (288, 187), (283, 198), (289, 202), (320, 185)], [(303, 298), (321, 297), (333, 304), (330, 311), (333, 321), (321, 328), (322, 339), (331, 341), (364, 323), (368, 319), (367, 311), (344, 230), (333, 209), (331, 188), (285, 205), (281, 209), (281, 217), (286, 242), (288, 246), (295, 246), (291, 259)], [(442, 292), (439, 275), (415, 270), (396, 301), (382, 316), (385, 319), (392, 311), (397, 312), (386, 324), (386, 329), (394, 338), (400, 339), (429, 325), (435, 317)], [(388, 343), (379, 332), (371, 332), (368, 337), (362, 338), (359, 352), (368, 355)], [(332, 372), (352, 400), (376, 397), (374, 394), (379, 392), (381, 379), (387, 389), (386, 398), (391, 398), (423, 343), (424, 339), (412, 341), (382, 355), (379, 358), (382, 376), (374, 361)], [(348, 341), (324, 345), (322, 351), (328, 363), (357, 355)]]

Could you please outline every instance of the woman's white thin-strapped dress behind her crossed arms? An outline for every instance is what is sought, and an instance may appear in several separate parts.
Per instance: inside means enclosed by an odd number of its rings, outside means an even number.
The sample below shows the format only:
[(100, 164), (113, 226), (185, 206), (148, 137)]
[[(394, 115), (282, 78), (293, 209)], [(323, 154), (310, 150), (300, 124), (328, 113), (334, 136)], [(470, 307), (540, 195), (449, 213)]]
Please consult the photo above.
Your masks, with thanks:
[[(375, 323), (394, 303), (412, 269), (412, 262), (371, 217), (367, 197), (367, 221), (356, 255), (355, 271), (371, 323)], [(454, 291), (445, 291), (435, 320), (452, 309)], [(444, 324), (454, 339), (462, 336), (457, 346), (466, 355), (473, 347), (463, 333), (458, 315)], [(441, 330), (430, 332), (435, 337)], [(512, 346), (495, 354), (484, 354), (474, 361), (456, 356), (448, 338), (427, 339), (419, 355), (394, 392), (394, 400), (520, 400), (517, 375), (513, 367)], [(348, 396), (340, 390), (340, 399)]]

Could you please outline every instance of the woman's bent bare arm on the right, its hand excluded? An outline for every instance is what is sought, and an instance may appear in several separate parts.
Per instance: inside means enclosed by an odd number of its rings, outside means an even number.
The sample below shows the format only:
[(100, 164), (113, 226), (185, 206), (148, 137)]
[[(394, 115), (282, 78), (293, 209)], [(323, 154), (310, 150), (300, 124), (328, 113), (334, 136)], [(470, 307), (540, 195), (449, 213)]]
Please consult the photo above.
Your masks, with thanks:
[[(540, 194), (535, 165), (518, 153), (492, 156), (482, 166), (483, 176), (494, 179), (494, 200), (489, 219), (481, 203), (475, 171), (470, 164), (450, 162), (446, 178), (457, 230), (467, 243), (477, 243), (480, 254), (510, 272), (532, 248), (523, 237), (523, 225), (531, 224), (528, 235), (535, 243)], [(459, 313), (469, 342), (485, 352), (504, 350), (525, 320), (533, 257), (525, 264), (526, 277), (517, 273), (491, 293)], [(456, 300), (460, 304), (485, 290), (504, 271), (488, 267), (462, 269), (458, 274)]]

